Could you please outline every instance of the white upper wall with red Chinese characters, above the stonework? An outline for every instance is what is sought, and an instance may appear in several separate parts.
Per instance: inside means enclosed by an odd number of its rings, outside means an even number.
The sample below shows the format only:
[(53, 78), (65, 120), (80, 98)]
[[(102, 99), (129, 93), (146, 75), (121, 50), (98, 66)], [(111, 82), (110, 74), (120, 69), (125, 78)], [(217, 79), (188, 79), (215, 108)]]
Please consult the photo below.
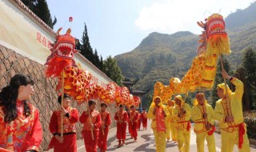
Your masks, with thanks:
[[(66, 31), (61, 31), (61, 34), (65, 33)], [(43, 65), (50, 54), (48, 43), (54, 41), (54, 33), (42, 26), (42, 23), (19, 6), (17, 1), (0, 0), (0, 44), (2, 46)], [(98, 82), (99, 85), (106, 86), (111, 81), (81, 54), (75, 55), (74, 59), (82, 69), (90, 71), (94, 82)]]

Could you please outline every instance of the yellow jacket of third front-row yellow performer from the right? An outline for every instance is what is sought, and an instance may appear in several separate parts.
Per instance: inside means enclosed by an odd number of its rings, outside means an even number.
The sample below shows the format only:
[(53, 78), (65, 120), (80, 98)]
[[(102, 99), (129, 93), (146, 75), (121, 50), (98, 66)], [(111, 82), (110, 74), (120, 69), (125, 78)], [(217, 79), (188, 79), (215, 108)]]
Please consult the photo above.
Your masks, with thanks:
[(187, 129), (188, 123), (190, 122), (190, 106), (187, 103), (183, 103), (183, 108), (186, 110), (186, 113), (182, 117), (178, 117), (178, 111), (180, 110), (180, 107), (178, 105), (174, 106), (172, 118), (174, 118), (175, 121), (175, 128), (178, 130), (181, 129)]

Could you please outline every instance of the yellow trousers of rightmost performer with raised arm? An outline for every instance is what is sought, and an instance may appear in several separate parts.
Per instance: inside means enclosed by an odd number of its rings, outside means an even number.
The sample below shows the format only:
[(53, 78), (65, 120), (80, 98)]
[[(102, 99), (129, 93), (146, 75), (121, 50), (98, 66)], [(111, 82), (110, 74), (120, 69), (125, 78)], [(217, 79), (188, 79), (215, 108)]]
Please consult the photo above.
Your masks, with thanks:
[[(239, 134), (238, 131), (234, 130), (232, 133), (229, 133), (225, 130), (221, 130), (222, 136), (222, 151), (224, 152), (233, 152), (234, 144), (238, 146)], [(242, 148), (238, 149), (239, 152), (250, 152), (250, 143), (247, 137), (247, 134), (243, 135)]]

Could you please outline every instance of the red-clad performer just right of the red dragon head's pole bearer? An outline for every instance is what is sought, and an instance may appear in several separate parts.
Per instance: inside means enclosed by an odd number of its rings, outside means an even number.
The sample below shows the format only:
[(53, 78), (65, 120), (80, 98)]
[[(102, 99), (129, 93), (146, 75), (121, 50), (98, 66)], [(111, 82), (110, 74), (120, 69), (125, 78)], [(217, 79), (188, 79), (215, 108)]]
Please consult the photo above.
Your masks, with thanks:
[[(82, 136), (85, 141), (87, 152), (97, 152), (99, 128), (102, 126), (101, 115), (96, 109), (96, 102), (89, 101), (89, 110), (82, 113), (79, 121), (83, 124)], [(93, 130), (94, 138), (92, 138), (91, 130)]]

